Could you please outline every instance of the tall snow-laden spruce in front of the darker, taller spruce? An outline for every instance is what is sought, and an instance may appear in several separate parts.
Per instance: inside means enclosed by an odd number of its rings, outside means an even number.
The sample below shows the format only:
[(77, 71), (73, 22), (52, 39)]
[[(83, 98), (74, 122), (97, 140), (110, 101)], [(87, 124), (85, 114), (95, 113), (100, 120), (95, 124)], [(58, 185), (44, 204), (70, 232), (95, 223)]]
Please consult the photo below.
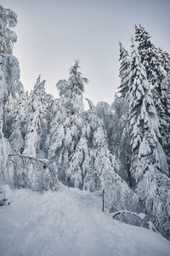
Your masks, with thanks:
[(160, 172), (168, 173), (166, 155), (159, 143), (159, 119), (150, 86), (139, 54), (132, 43), (129, 77), (131, 173), (138, 183), (147, 171), (146, 162)]

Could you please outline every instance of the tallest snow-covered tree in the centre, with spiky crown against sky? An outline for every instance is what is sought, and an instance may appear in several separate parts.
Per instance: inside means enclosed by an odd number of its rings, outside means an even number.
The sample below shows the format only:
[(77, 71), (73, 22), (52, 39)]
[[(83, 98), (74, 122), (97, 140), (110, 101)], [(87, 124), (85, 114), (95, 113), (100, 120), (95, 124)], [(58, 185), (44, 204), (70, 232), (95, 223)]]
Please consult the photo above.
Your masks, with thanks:
[[(82, 186), (80, 166), (84, 160), (83, 151), (86, 152), (86, 148), (81, 148), (85, 145), (82, 135), (82, 94), (84, 85), (88, 83), (88, 79), (82, 77), (79, 68), (79, 63), (76, 61), (70, 69), (69, 78), (59, 80), (57, 83), (59, 101), (51, 124), (48, 150), (48, 159), (54, 160), (58, 165), (59, 178), (63, 182), (66, 179), (71, 185), (77, 184), (77, 187)], [(80, 181), (79, 184), (76, 179)]]

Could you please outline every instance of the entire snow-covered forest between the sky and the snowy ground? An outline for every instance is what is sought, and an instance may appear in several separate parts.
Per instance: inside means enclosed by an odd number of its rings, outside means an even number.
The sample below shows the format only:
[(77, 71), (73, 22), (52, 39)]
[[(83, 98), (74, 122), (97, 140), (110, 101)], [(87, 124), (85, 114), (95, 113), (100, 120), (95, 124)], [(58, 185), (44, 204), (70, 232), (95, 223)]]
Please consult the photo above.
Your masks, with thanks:
[[(114, 224), (130, 224), (150, 236), (155, 232), (158, 241), (170, 240), (170, 55), (152, 43), (147, 28), (135, 25), (130, 52), (119, 43), (121, 84), (114, 100), (95, 106), (83, 96), (89, 83), (83, 61), (73, 62), (69, 77), (57, 82), (59, 97), (46, 92), (41, 75), (31, 92), (25, 90), (13, 55), (16, 25), (14, 11), (0, 6), (0, 211), (8, 218), (16, 193), (22, 201), (21, 191), (36, 193), (37, 201), (48, 195), (48, 203), (62, 189), (65, 197), (79, 191), (98, 198), (98, 212), (113, 230)], [(69, 207), (65, 197), (61, 201)], [(5, 254), (8, 237), (1, 230), (2, 255), (76, 255), (53, 249), (17, 254), (14, 244), (13, 254)], [(95, 253), (79, 255), (100, 255)]]

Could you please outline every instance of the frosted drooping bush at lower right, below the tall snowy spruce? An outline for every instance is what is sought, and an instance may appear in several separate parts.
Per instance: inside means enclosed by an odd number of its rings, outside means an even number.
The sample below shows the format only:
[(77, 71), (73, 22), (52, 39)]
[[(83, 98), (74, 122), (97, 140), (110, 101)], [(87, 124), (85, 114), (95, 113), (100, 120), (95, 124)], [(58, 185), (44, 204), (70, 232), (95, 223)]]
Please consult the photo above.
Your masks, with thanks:
[(154, 166), (144, 165), (148, 172), (139, 181), (137, 192), (156, 229), (170, 239), (170, 179)]

